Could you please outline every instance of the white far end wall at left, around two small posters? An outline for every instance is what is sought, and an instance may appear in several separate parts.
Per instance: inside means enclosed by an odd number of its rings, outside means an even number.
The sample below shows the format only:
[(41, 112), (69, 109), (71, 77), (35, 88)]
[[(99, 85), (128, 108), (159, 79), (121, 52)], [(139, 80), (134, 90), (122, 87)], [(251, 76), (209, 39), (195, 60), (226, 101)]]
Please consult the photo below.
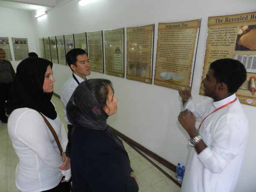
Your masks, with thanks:
[(29, 52), (35, 52), (35, 37), (30, 12), (17, 11), (0, 7), (0, 37), (8, 37), (12, 53), (12, 66), (16, 71), (21, 60), (15, 61), (12, 38), (27, 38)]

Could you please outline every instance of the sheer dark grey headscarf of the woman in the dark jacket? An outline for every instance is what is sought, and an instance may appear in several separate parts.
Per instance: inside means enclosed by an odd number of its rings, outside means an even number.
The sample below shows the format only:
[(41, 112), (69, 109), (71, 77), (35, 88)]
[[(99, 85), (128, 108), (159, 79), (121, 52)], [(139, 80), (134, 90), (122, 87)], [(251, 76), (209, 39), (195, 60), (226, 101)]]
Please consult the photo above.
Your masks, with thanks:
[[(93, 81), (93, 79), (87, 81)], [(113, 140), (124, 148), (122, 140), (120, 140), (107, 125), (108, 114), (99, 105), (86, 86), (85, 81), (81, 82), (78, 87), (76, 87), (76, 90), (67, 103), (66, 109), (67, 119), (74, 127), (106, 130)]]

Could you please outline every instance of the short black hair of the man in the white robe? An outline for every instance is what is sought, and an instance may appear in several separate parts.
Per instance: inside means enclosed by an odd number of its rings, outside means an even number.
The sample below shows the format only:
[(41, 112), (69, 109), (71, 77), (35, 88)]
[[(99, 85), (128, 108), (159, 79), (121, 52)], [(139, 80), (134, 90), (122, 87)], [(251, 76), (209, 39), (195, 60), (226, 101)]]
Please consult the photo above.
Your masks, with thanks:
[(210, 64), (216, 84), (225, 83), (229, 93), (236, 93), (246, 80), (246, 69), (244, 65), (234, 59), (219, 59)]

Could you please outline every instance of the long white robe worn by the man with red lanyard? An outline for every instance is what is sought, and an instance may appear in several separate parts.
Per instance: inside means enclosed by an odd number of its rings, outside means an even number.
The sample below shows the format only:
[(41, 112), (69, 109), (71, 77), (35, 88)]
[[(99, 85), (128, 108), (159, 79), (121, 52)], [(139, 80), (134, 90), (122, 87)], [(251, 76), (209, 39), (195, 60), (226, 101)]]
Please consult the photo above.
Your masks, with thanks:
[[(221, 106), (236, 99), (233, 94), (218, 102), (194, 105), (186, 102), (196, 119), (204, 119)], [(200, 154), (190, 147), (181, 192), (233, 192), (239, 177), (248, 137), (248, 121), (238, 99), (210, 114), (199, 134), (207, 145)]]

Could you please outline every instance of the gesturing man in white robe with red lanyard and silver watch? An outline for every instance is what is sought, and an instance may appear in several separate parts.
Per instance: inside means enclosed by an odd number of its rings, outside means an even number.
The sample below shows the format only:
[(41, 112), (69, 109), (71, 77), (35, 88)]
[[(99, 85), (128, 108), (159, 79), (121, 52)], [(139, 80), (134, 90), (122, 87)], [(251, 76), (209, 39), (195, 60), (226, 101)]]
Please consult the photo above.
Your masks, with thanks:
[[(181, 192), (233, 192), (248, 137), (248, 121), (236, 91), (246, 80), (244, 65), (233, 59), (210, 64), (204, 95), (196, 105), (190, 92), (180, 91), (178, 120), (189, 134), (189, 154)], [(202, 119), (195, 128), (195, 119)]]

